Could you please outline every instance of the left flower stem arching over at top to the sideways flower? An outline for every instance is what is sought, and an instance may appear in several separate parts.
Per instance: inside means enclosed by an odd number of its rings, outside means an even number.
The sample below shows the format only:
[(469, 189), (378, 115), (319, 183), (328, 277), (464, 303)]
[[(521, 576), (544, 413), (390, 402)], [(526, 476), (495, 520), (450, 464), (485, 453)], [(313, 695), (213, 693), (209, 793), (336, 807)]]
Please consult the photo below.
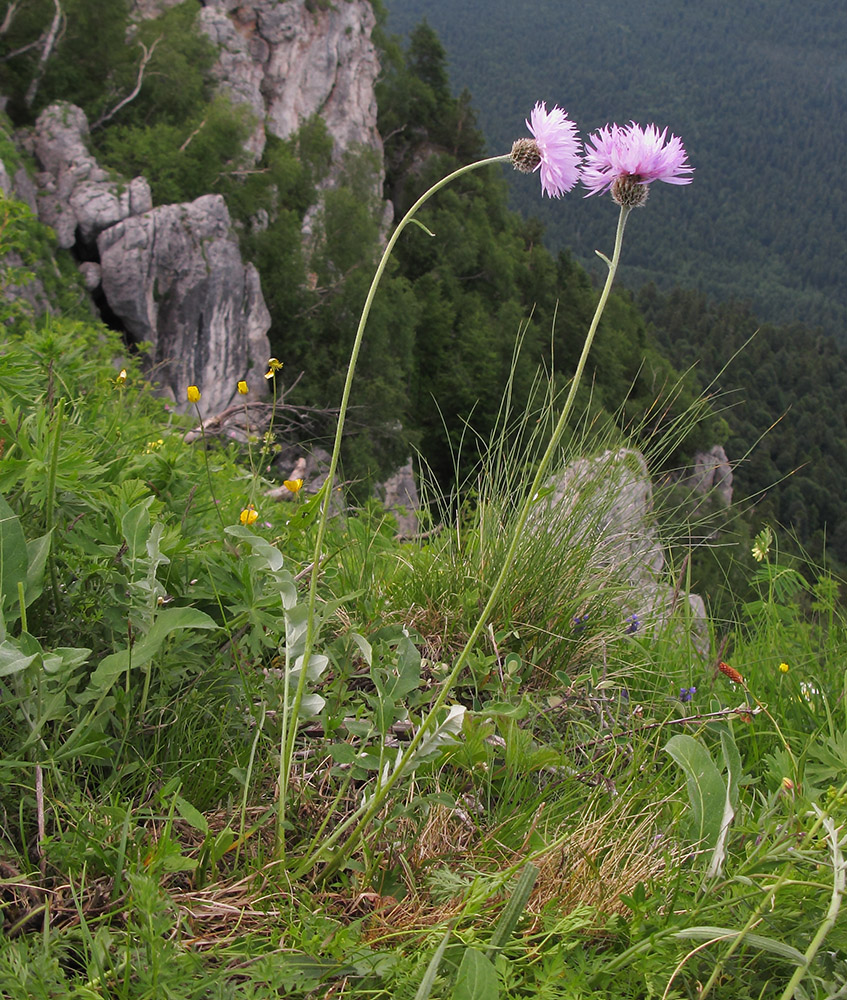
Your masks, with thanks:
[[(443, 187), (450, 184), (452, 181), (457, 180), (464, 174), (470, 173), (472, 170), (478, 170), (480, 167), (487, 167), (494, 163), (508, 163), (511, 160), (511, 153), (504, 153), (500, 156), (490, 156), (484, 160), (478, 160), (476, 163), (466, 164), (464, 167), (459, 167), (458, 170), (454, 170), (453, 173), (448, 174), (443, 177), (436, 184), (433, 184), (429, 190), (425, 191), (420, 198), (412, 205), (408, 212), (403, 216), (403, 218), (397, 223), (397, 228), (391, 234), (391, 238), (383, 250), (382, 257), (380, 258), (379, 264), (377, 265), (376, 272), (374, 273), (373, 280), (371, 281), (371, 287), (368, 289), (367, 298), (365, 299), (365, 304), (362, 307), (362, 314), (359, 317), (359, 325), (356, 329), (356, 336), (353, 339), (353, 348), (350, 351), (350, 361), (347, 364), (347, 377), (344, 380), (344, 390), (341, 394), (341, 406), (338, 410), (338, 424), (335, 429), (335, 441), (332, 447), (332, 455), (329, 460), (329, 471), (327, 472), (326, 480), (323, 486), (323, 502), (321, 503), (321, 513), (318, 518), (318, 526), (315, 534), (315, 556), (312, 562), (312, 572), (309, 576), (309, 599), (308, 599), (308, 625), (306, 628), (306, 639), (305, 639), (305, 649), (303, 652), (303, 662), (300, 668), (300, 677), (297, 684), (297, 689), (294, 693), (294, 701), (291, 706), (291, 714), (289, 725), (284, 729), (282, 734), (282, 755), (280, 760), (280, 780), (279, 780), (279, 809), (280, 816), (282, 817), (285, 812), (285, 804), (288, 795), (288, 785), (289, 778), (291, 774), (291, 762), (294, 757), (294, 742), (297, 736), (297, 717), (300, 711), (300, 704), (303, 700), (303, 692), (306, 686), (306, 674), (309, 666), (309, 660), (311, 659), (312, 652), (315, 645), (316, 639), (316, 607), (318, 598), (318, 579), (320, 578), (321, 567), (323, 565), (323, 543), (324, 537), (326, 535), (326, 527), (329, 522), (329, 512), (332, 504), (332, 489), (335, 482), (335, 473), (338, 468), (338, 457), (341, 453), (341, 439), (344, 433), (344, 420), (347, 416), (347, 410), (350, 404), (350, 390), (353, 386), (353, 375), (356, 371), (356, 363), (359, 359), (359, 351), (362, 347), (362, 340), (365, 335), (365, 327), (368, 325), (368, 317), (371, 313), (371, 306), (373, 305), (374, 297), (376, 296), (377, 288), (379, 288), (379, 283), (382, 280), (382, 276), (385, 273), (385, 268), (388, 265), (388, 261), (397, 244), (397, 240), (400, 238), (403, 230), (409, 225), (410, 222), (414, 220), (415, 215), (417, 215), (418, 210), (426, 204), (427, 201)], [(420, 225), (420, 223), (418, 223)], [(425, 228), (425, 227), (423, 227)], [(427, 230), (428, 232), (428, 230)], [(432, 233), (429, 234), (430, 236)], [(354, 814), (355, 816), (355, 814)], [(277, 849), (282, 856), (285, 852), (284, 843), (284, 831), (283, 824), (279, 824), (279, 835), (277, 839)], [(317, 859), (315, 859), (317, 860)], [(313, 862), (314, 864), (314, 862)], [(308, 868), (311, 868), (309, 865)], [(308, 870), (308, 868), (306, 870)]]

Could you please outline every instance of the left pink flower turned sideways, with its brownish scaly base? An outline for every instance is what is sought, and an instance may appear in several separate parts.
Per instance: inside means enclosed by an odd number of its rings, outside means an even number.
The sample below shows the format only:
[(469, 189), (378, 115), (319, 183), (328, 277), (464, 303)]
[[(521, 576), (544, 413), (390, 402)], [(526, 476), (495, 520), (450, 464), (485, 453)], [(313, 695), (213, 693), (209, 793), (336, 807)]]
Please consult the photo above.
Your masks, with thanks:
[(579, 180), (582, 157), (576, 125), (560, 107), (551, 111), (539, 101), (526, 127), (532, 139), (518, 139), (512, 146), (512, 164), (524, 173), (541, 171), (541, 190), (550, 198), (561, 198)]

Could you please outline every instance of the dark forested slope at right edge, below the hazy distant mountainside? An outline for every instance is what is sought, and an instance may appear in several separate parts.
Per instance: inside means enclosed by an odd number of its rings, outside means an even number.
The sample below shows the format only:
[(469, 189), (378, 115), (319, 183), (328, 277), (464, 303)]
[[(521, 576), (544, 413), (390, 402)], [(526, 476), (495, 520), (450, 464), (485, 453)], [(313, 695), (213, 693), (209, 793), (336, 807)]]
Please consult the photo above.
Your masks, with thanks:
[[(847, 510), (836, 470), (847, 462), (847, 361), (806, 326), (761, 325), (741, 303), (654, 287), (637, 299), (678, 367), (728, 407), (727, 454), (739, 505), (787, 526), (816, 559), (847, 560)], [(822, 419), (826, 414), (826, 419)]]

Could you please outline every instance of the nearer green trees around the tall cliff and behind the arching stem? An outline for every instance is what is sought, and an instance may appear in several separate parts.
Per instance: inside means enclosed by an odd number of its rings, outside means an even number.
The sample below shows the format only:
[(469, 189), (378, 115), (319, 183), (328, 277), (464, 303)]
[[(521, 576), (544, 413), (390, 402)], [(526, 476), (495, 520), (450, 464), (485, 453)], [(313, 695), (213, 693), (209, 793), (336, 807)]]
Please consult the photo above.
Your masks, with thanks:
[[(373, 183), (380, 165), (371, 150), (351, 151), (328, 184), (332, 142), (319, 118), (304, 121), (287, 140), (269, 136), (261, 159), (251, 163), (243, 150), (250, 116), (215, 88), (216, 51), (196, 31), (199, 10), (197, 0), (185, 0), (141, 22), (133, 29), (135, 44), (125, 46), (128, 4), (103, 11), (95, 0), (68, 0), (65, 27), (33, 94), (39, 50), (27, 45), (48, 29), (53, 13), (51, 4), (33, 3), (16, 12), (3, 38), (0, 90), (17, 127), (30, 126), (51, 101), (78, 102), (100, 162), (123, 177), (143, 173), (154, 204), (222, 194), (242, 252), (261, 274), (272, 349), (284, 358), (289, 383), (296, 381), (287, 398), (332, 407), (380, 250), (385, 206)], [(397, 219), (433, 181), (478, 158), (484, 140), (471, 103), (452, 95), (432, 31), (415, 32), (408, 52), (384, 32), (378, 42), (385, 194)], [(150, 58), (132, 96), (142, 51)], [(521, 114), (513, 127), (525, 134)], [(493, 167), (440, 193), (421, 213), (435, 236), (414, 228), (405, 234), (383, 280), (345, 449), (347, 475), (362, 493), (416, 446), (445, 485), (457, 455), (460, 474), (467, 472), (476, 436), (487, 438), (497, 417), (521, 334), (513, 380), (518, 411), (540, 367), (560, 385), (573, 372), (595, 292), (572, 257), (555, 258), (544, 247), (537, 222), (509, 210), (506, 173)], [(540, 205), (537, 179), (523, 182)], [(304, 240), (307, 215), (311, 235)], [(610, 222), (607, 246), (612, 235)], [(590, 372), (595, 414), (614, 414), (625, 399), (630, 415), (643, 412), (657, 385), (678, 381), (627, 296), (607, 310)], [(691, 392), (683, 393), (676, 406), (690, 399)], [(588, 390), (582, 403), (584, 410)], [(697, 443), (713, 443), (710, 434), (696, 430), (673, 460), (683, 461)], [(460, 449), (463, 440), (469, 443)]]

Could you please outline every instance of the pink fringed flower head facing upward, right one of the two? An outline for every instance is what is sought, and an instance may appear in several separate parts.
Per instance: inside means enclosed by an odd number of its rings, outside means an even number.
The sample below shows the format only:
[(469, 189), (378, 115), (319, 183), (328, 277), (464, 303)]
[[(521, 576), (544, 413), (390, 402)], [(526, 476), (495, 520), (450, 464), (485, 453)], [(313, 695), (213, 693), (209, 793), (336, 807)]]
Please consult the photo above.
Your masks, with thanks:
[[(585, 167), (582, 183), (588, 188), (586, 198), (613, 188), (641, 189), (642, 203), (646, 198), (645, 185), (653, 181), (666, 184), (690, 184), (693, 167), (688, 165), (688, 154), (679, 136), (668, 130), (659, 132), (655, 125), (642, 128), (630, 122), (625, 128), (607, 125), (588, 137), (585, 145)], [(619, 200), (615, 198), (615, 200)]]

